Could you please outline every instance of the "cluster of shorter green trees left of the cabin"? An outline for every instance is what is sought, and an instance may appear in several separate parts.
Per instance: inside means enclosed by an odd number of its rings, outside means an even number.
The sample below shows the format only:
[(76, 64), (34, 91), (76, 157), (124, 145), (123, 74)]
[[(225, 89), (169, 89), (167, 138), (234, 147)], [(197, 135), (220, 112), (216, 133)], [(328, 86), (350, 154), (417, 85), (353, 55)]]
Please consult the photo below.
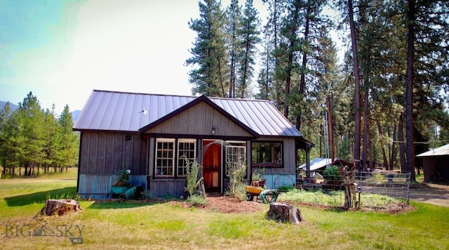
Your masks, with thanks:
[[(72, 114), (43, 110), (32, 92), (17, 110), (6, 103), (0, 110), (0, 166), (11, 176), (39, 176), (78, 164), (79, 136), (72, 130)], [(23, 172), (22, 172), (23, 169)]]

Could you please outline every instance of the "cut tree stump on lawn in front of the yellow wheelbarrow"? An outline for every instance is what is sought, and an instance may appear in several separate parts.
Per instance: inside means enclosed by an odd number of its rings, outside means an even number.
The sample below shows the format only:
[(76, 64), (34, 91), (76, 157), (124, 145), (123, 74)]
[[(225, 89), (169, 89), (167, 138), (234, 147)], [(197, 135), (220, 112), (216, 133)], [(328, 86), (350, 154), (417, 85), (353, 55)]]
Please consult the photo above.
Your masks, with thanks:
[(302, 216), (300, 209), (295, 208), (295, 206), (284, 202), (274, 202), (269, 205), (267, 219), (299, 224), (302, 221)]

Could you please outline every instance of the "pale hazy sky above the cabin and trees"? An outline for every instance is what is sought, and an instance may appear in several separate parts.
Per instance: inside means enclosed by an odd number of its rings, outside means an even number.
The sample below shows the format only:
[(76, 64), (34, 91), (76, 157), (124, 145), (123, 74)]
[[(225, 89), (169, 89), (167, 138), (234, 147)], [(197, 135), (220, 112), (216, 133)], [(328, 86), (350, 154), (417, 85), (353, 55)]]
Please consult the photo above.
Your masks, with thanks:
[[(190, 96), (198, 3), (1, 0), (0, 100), (17, 104), (32, 91), (60, 114), (81, 110), (94, 89)], [(262, 0), (254, 5), (263, 15)]]

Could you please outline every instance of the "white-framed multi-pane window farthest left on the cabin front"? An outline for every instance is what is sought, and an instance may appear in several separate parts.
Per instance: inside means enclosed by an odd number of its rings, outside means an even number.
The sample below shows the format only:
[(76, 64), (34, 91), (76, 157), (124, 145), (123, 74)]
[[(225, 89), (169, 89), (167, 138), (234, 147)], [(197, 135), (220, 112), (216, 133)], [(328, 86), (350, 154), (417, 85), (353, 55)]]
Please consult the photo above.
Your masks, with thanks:
[(175, 139), (156, 139), (156, 176), (173, 177)]

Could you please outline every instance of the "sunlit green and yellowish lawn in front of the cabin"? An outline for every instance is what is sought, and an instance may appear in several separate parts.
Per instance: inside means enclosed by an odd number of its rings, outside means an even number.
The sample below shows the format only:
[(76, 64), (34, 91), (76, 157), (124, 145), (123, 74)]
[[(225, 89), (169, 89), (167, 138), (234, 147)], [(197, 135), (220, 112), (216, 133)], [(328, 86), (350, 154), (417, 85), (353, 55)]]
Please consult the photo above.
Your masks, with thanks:
[[(74, 190), (76, 173), (63, 178), (0, 180), (0, 249), (72, 247), (69, 237), (78, 237), (79, 228), (83, 249), (449, 248), (445, 230), (449, 208), (416, 202), (411, 202), (413, 211), (398, 214), (304, 206), (300, 225), (267, 221), (264, 213), (269, 205), (264, 205), (265, 211), (236, 214), (186, 209), (169, 202), (83, 201), (81, 213), (36, 216), (48, 195), (58, 197)], [(20, 232), (24, 225), (25, 235), (42, 225), (56, 234), (25, 237)], [(11, 235), (15, 232), (18, 236)]]

